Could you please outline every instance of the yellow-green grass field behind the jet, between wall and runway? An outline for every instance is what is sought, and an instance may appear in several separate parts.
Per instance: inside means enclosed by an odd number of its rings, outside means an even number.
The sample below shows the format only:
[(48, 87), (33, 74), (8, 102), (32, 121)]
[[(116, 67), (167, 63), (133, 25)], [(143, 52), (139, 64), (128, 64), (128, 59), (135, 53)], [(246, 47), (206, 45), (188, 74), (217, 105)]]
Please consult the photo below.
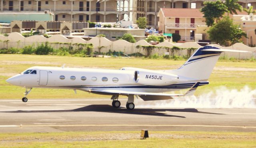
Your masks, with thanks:
[[(72, 56), (40, 56), (40, 55), (0, 55), (0, 99), (20, 99), (23, 97), (24, 88), (12, 86), (5, 80), (15, 74), (23, 72), (31, 66), (62, 66), (120, 69), (122, 67), (137, 67), (152, 70), (179, 68), (185, 61), (146, 58), (83, 58)], [(216, 69), (210, 76), (210, 84), (202, 86), (196, 95), (209, 92), (220, 86), (228, 89), (240, 89), (245, 85), (256, 89), (256, 62), (218, 61)], [(73, 90), (39, 89), (34, 88), (28, 95), (33, 98), (100, 98), (103, 95), (89, 94)]]

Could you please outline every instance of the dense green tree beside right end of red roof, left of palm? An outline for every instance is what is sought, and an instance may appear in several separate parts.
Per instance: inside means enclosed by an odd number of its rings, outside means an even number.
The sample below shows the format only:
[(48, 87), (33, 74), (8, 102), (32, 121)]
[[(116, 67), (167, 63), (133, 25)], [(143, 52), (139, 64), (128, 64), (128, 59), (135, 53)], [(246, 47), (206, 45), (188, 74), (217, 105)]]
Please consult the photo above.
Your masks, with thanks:
[(200, 12), (204, 14), (206, 25), (209, 27), (214, 25), (214, 21), (218, 21), (225, 12), (228, 12), (228, 8), (220, 0), (214, 2), (206, 1), (204, 2), (204, 7), (200, 9)]

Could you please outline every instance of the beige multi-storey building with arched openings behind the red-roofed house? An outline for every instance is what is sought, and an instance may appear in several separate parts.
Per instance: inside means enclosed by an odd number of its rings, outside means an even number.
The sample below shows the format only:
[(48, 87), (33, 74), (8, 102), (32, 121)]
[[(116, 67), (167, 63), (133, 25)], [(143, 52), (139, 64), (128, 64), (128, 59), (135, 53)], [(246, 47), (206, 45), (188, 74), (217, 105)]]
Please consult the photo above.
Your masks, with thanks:
[[(133, 2), (134, 11), (132, 18), (135, 22), (139, 17), (146, 17), (150, 27), (158, 28), (159, 18), (157, 14), (160, 8), (195, 8), (199, 9), (204, 6), (205, 1), (215, 0), (136, 0)], [(225, 1), (225, 0), (221, 0)], [(238, 3), (244, 7), (253, 6), (256, 9), (256, 0), (238, 0)], [(182, 10), (181, 10), (182, 11)], [(179, 12), (178, 12), (179, 14)]]

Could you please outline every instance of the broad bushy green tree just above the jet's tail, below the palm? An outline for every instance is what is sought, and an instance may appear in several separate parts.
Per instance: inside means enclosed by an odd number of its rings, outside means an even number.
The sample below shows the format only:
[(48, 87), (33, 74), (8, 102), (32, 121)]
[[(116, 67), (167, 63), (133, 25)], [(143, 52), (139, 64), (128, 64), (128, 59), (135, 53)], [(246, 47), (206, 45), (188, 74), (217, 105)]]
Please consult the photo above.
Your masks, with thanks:
[(240, 26), (234, 24), (229, 17), (224, 17), (213, 25), (207, 33), (212, 41), (221, 45), (225, 45), (227, 41), (231, 41), (232, 44), (241, 42), (242, 36), (247, 37), (246, 33), (240, 29)]

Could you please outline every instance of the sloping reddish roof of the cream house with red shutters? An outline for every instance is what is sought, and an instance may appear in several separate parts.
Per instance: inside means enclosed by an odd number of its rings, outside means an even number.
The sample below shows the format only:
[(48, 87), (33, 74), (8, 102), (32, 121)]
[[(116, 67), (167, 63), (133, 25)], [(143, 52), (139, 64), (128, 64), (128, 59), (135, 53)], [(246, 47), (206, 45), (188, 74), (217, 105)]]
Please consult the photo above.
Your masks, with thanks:
[(164, 13), (164, 17), (167, 18), (203, 18), (199, 9), (189, 8), (161, 8)]

